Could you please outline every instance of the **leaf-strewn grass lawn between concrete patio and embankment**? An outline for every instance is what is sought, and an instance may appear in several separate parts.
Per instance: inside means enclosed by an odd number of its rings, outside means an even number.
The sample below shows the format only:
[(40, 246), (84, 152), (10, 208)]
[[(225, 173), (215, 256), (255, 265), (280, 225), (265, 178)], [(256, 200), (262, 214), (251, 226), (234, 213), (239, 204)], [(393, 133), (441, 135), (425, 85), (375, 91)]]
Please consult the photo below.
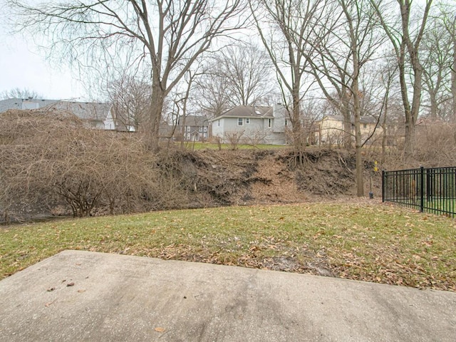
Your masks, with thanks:
[(378, 202), (176, 210), (0, 227), (0, 279), (64, 249), (456, 291), (456, 221)]

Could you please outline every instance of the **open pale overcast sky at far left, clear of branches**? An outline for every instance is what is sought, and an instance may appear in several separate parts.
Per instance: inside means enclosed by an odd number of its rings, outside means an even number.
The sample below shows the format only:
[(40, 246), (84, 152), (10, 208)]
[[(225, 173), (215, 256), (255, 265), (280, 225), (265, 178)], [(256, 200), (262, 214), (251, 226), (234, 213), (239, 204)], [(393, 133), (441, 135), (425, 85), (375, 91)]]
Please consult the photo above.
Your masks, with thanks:
[(81, 83), (66, 67), (51, 66), (33, 39), (11, 34), (5, 1), (0, 0), (0, 93), (13, 88), (33, 90), (48, 99), (81, 98)]

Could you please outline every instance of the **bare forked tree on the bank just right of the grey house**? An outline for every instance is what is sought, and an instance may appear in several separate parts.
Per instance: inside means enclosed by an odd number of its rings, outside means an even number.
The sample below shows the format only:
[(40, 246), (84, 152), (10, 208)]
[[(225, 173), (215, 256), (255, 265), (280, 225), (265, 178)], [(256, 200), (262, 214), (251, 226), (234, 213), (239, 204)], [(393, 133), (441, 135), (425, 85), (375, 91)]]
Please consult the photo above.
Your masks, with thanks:
[[(305, 139), (300, 102), (304, 84), (309, 81), (305, 70), (308, 63), (306, 54), (310, 51), (306, 48), (312, 48), (309, 41), (318, 43), (319, 36), (315, 31), (321, 27), (319, 23), (326, 20), (326, 1), (251, 0), (250, 7), (261, 41), (274, 65), (284, 103), (289, 109), (294, 146), (301, 149), (305, 146)], [(306, 86), (309, 87), (309, 83)], [(289, 97), (291, 105), (287, 101)]]

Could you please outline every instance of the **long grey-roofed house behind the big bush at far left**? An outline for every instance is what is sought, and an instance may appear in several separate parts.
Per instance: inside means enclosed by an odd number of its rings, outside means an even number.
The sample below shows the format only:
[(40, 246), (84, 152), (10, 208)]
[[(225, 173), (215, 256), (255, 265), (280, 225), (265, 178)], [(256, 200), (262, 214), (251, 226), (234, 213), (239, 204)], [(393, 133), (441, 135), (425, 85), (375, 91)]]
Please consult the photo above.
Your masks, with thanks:
[(9, 109), (60, 110), (73, 113), (90, 128), (115, 130), (115, 120), (110, 103), (76, 102), (63, 100), (41, 100), (34, 98), (9, 98), (0, 101), (0, 113)]

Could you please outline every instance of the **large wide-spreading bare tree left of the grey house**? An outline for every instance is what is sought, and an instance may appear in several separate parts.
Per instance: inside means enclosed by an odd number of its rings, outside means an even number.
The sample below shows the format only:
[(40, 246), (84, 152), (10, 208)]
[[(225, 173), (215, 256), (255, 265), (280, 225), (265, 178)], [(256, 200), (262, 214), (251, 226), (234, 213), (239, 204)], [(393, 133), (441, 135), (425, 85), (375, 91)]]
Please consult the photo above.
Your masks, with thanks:
[(165, 97), (215, 38), (242, 26), (240, 0), (9, 0), (27, 31), (81, 65), (128, 60), (150, 70), (149, 144), (157, 147)]

